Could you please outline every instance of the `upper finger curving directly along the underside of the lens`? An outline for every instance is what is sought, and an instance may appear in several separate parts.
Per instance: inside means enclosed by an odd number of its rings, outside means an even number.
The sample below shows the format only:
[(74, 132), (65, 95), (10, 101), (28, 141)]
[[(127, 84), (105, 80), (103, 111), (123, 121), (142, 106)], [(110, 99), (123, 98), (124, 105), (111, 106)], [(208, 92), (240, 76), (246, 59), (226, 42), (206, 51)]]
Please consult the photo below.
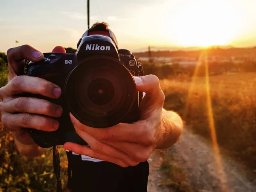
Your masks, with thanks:
[(148, 133), (148, 122), (138, 121), (132, 124), (119, 123), (109, 128), (91, 128), (82, 124), (70, 113), (71, 121), (80, 131), (93, 135), (97, 140), (128, 141), (134, 143), (151, 144), (153, 137)]

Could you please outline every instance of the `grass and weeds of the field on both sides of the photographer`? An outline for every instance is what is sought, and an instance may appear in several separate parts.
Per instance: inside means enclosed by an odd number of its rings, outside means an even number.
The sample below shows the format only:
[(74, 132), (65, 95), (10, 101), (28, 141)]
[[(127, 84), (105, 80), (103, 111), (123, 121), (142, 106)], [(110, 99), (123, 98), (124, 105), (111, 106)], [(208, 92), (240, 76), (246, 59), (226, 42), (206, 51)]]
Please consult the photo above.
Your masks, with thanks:
[[(7, 69), (2, 65), (0, 85), (4, 86), (6, 80)], [(161, 79), (160, 84), (166, 95), (164, 108), (177, 111), (186, 128), (224, 148), (250, 169), (256, 169), (256, 73), (209, 78), (175, 76)], [(67, 158), (61, 147), (60, 156), (66, 191)], [(51, 192), (55, 185), (52, 151), (49, 149), (37, 158), (21, 157), (10, 132), (0, 126), (0, 192)]]

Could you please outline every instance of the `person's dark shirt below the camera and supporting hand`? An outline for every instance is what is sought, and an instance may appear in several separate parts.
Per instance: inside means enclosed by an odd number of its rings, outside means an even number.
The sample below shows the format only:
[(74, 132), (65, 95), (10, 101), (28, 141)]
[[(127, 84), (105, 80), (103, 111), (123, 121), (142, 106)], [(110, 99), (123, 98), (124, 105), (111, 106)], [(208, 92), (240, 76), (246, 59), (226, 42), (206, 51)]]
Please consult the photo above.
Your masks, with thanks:
[(71, 192), (146, 192), (148, 162), (123, 168), (114, 163), (67, 152)]

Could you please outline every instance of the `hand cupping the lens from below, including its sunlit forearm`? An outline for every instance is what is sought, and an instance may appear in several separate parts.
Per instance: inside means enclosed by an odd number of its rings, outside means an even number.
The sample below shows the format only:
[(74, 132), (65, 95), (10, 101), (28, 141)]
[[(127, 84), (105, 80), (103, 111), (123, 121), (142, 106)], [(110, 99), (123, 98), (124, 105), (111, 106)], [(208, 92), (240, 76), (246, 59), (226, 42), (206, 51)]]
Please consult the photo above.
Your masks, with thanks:
[[(137, 90), (146, 93), (140, 103), (139, 121), (97, 129), (81, 124), (70, 113), (76, 132), (90, 147), (68, 142), (64, 144), (64, 148), (77, 154), (127, 167), (148, 160), (155, 148), (174, 144), (181, 134), (183, 125), (179, 116), (178, 123), (181, 123), (177, 124), (162, 115), (165, 96), (158, 78), (148, 75), (134, 77), (134, 80)], [(172, 134), (173, 136), (170, 137)]]

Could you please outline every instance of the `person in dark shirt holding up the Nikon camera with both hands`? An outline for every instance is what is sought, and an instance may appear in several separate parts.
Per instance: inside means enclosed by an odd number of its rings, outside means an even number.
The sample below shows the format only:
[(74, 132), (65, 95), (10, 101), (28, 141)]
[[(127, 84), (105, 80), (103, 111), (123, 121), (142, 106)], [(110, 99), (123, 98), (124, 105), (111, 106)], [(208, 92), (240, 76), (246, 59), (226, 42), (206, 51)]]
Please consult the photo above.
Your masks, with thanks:
[[(116, 37), (106, 23), (95, 23), (83, 37), (90, 35), (107, 36), (118, 49)], [(52, 52), (66, 53), (61, 46)], [(46, 78), (24, 76), (24, 59), (39, 62), (44, 58), (37, 49), (29, 45), (11, 48), (7, 58), (8, 84), (0, 88), (2, 124), (12, 131), (20, 154), (35, 157), (42, 154), (44, 148), (38, 146), (24, 128), (58, 130), (61, 122), (56, 119), (65, 109), (52, 101), (60, 98), (64, 90)], [(177, 113), (163, 109), (165, 96), (158, 78), (134, 76), (134, 81), (137, 92), (145, 93), (138, 108), (139, 120), (97, 129), (82, 124), (70, 113), (76, 134), (87, 143), (64, 144), (69, 161), (68, 188), (72, 192), (146, 192), (148, 157), (154, 149), (168, 148), (179, 139), (182, 119)], [(102, 91), (104, 89), (97, 90), (99, 94)], [(41, 97), (24, 96), (23, 93)]]

